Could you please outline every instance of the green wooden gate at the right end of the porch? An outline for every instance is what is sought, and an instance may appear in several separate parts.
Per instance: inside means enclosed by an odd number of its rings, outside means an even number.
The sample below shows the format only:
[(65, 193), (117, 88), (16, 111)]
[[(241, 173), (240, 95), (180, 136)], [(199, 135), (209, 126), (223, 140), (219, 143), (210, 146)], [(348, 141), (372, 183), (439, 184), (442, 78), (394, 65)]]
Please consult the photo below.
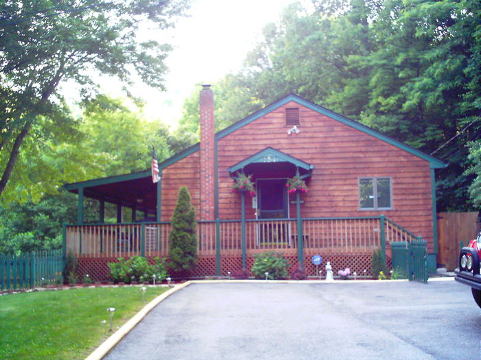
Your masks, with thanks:
[(427, 243), (423, 239), (397, 241), (392, 246), (392, 268), (401, 278), (427, 283)]

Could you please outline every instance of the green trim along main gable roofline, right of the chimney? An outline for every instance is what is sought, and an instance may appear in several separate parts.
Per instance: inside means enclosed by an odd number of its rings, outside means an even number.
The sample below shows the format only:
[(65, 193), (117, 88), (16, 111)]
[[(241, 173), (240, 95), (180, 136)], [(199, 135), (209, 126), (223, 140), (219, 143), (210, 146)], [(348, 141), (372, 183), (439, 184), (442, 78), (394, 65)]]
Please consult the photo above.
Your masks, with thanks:
[(229, 127), (225, 128), (224, 130), (221, 130), (216, 134), (216, 140), (222, 139), (223, 137), (232, 134), (232, 132), (242, 128), (243, 126), (251, 123), (252, 121), (259, 119), (260, 117), (267, 115), (269, 112), (276, 110), (277, 108), (280, 108), (281, 106), (284, 106), (287, 104), (289, 101), (295, 101), (296, 103), (305, 106), (306, 108), (309, 108), (311, 110), (314, 110), (316, 112), (319, 112), (322, 115), (326, 115), (327, 117), (331, 117), (331, 119), (335, 119), (341, 123), (344, 123), (345, 125), (350, 126), (351, 128), (355, 128), (356, 130), (359, 130), (361, 132), (364, 132), (365, 134), (368, 134), (370, 136), (374, 136), (375, 138), (385, 141), (386, 143), (389, 143), (390, 145), (393, 145), (395, 147), (399, 147), (399, 149), (403, 149), (405, 152), (408, 152), (410, 154), (413, 154), (415, 156), (418, 156), (419, 158), (422, 158), (423, 160), (426, 160), (429, 162), (430, 167), (434, 169), (441, 169), (443, 167), (447, 167), (446, 163), (443, 163), (443, 161), (438, 160), (437, 158), (434, 158), (433, 156), (430, 156), (428, 154), (425, 154), (424, 152), (421, 152), (421, 150), (415, 149), (414, 147), (411, 147), (410, 145), (407, 145), (405, 143), (401, 143), (401, 141), (397, 141), (392, 139), (390, 136), (381, 134), (380, 132), (377, 132), (374, 129), (368, 128), (366, 125), (362, 125), (361, 123), (358, 123), (357, 121), (354, 121), (352, 119), (348, 119), (347, 117), (344, 117), (340, 114), (337, 114), (336, 112), (333, 112), (332, 110), (328, 110), (322, 106), (313, 104), (311, 101), (303, 99), (302, 97), (299, 97), (298, 95), (287, 95), (287, 97), (284, 97), (273, 104), (263, 108), (262, 110), (259, 110), (258, 112), (254, 112), (254, 114), (250, 115), (249, 117), (246, 117), (245, 119), (242, 119), (238, 121), (237, 123), (234, 123), (230, 125)]

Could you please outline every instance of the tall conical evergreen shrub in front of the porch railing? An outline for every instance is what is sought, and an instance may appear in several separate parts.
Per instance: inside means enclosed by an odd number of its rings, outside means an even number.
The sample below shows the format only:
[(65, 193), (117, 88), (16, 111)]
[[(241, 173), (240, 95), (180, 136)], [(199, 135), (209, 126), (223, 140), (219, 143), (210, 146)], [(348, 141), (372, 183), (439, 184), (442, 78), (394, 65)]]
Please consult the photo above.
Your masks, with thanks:
[(190, 204), (190, 193), (186, 187), (181, 187), (169, 235), (169, 267), (174, 272), (185, 273), (197, 266), (195, 228), (195, 209)]

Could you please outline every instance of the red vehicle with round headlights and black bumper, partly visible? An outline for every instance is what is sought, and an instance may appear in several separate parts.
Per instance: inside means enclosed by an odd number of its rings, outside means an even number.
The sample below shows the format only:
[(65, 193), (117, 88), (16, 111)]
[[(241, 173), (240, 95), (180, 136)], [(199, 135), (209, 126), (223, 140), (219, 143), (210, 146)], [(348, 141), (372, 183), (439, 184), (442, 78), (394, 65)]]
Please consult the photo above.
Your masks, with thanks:
[(471, 287), (474, 301), (481, 307), (481, 231), (477, 239), (461, 249), (459, 254), (459, 268), (455, 270), (456, 281)]

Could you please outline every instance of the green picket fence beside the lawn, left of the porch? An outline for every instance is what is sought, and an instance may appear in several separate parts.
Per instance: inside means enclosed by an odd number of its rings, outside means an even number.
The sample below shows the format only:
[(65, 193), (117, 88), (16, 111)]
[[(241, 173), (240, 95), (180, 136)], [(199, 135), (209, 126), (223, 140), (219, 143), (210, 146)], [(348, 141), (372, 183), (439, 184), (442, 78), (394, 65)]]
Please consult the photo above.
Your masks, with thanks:
[(23, 289), (54, 284), (62, 276), (63, 251), (0, 254), (0, 289)]

